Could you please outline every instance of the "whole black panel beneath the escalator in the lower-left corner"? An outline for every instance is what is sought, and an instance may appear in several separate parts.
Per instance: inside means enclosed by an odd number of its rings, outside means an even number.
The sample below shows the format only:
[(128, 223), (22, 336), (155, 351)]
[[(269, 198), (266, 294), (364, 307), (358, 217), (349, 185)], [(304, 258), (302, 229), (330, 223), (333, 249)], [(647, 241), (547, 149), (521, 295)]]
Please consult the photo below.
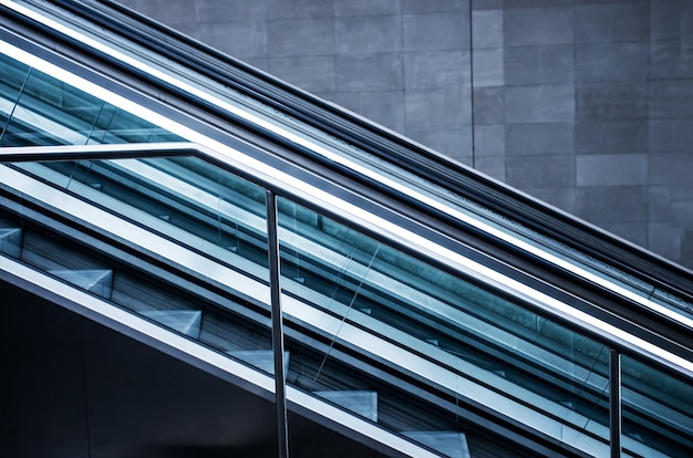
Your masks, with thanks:
[[(276, 456), (273, 403), (4, 281), (0, 301), (1, 456)], [(291, 425), (297, 456), (385, 456)]]

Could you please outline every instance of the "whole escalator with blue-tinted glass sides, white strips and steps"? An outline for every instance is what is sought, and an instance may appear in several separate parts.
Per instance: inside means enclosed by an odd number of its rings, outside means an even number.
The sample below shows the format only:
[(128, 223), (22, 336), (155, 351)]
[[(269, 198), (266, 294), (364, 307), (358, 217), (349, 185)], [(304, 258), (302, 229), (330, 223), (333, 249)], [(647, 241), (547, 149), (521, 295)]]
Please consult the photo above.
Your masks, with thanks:
[(281, 361), (289, 409), (387, 455), (693, 451), (689, 272), (608, 238), (622, 256), (596, 257), (604, 235), (550, 237), (535, 226), (551, 210), (511, 218), (443, 187), (454, 165), (417, 176), (363, 152), (374, 134), (318, 131), (271, 92), (221, 97), (136, 30), (102, 35), (106, 11), (164, 33), (114, 6), (3, 8), (4, 281), (50, 284), (268, 398)]

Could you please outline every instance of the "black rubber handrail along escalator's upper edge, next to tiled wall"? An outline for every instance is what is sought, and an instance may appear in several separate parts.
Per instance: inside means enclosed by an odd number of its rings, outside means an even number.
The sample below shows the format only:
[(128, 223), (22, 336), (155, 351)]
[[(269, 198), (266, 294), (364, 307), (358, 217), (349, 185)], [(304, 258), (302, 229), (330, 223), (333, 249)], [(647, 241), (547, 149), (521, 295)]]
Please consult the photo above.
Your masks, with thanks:
[[(686, 300), (693, 299), (693, 273), (687, 269), (518, 194), (503, 184), (282, 83), (127, 8), (108, 0), (52, 0), (52, 3), (308, 125), (384, 160), (397, 164), (408, 173), (490, 208), (532, 231), (575, 248), (675, 295)], [(114, 21), (114, 15), (123, 20)], [(157, 37), (165, 38), (165, 40), (157, 40)], [(331, 167), (340, 174), (350, 173), (350, 170), (337, 168), (334, 164), (329, 164), (317, 155), (311, 155), (310, 152), (298, 150), (297, 153), (311, 160), (321, 162), (323, 166)], [(402, 199), (402, 196), (394, 196), (394, 198)], [(407, 201), (407, 204), (420, 209), (422, 207), (416, 201)], [(432, 212), (428, 208), (421, 210)], [(441, 214), (435, 217), (448, 219)]]

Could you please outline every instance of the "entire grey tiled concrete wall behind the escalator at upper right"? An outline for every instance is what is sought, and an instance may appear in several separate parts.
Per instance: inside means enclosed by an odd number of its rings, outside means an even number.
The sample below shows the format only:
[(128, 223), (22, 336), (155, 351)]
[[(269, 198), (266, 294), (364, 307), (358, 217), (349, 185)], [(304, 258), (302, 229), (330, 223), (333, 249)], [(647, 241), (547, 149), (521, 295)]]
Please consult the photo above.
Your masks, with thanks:
[(689, 0), (122, 0), (693, 267)]

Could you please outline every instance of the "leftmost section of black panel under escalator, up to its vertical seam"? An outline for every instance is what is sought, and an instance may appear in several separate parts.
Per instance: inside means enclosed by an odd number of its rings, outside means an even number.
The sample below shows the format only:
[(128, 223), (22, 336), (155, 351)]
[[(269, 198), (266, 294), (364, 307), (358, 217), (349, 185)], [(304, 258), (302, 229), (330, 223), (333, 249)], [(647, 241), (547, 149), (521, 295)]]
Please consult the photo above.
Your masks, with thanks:
[(89, 457), (81, 320), (4, 282), (0, 455)]

